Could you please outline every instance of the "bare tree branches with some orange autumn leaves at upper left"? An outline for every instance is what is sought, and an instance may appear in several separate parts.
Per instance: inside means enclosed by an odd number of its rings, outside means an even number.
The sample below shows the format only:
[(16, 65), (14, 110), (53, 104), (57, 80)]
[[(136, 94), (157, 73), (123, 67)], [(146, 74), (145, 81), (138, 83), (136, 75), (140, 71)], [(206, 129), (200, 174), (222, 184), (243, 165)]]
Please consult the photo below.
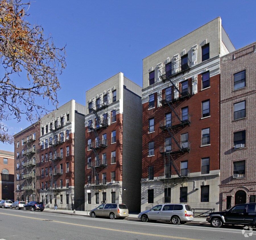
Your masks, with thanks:
[(1, 142), (13, 142), (2, 121), (20, 121), (22, 116), (31, 123), (38, 121), (49, 111), (38, 104), (40, 97), (58, 106), (58, 75), (66, 67), (65, 46), (55, 47), (52, 37), (44, 36), (42, 26), (26, 21), (29, 6), (30, 2), (21, 0), (0, 0)]

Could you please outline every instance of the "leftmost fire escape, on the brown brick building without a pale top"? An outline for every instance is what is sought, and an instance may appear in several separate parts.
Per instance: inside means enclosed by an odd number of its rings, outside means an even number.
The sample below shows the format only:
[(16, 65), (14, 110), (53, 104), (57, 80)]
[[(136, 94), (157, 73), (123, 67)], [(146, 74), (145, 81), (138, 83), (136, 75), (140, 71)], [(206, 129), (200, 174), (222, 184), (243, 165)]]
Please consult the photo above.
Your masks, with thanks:
[(22, 174), (22, 178), (24, 179), (22, 190), (26, 190), (27, 195), (32, 194), (36, 190), (36, 174), (33, 169), (36, 165), (36, 160), (33, 158), (33, 155), (36, 153), (36, 147), (33, 146), (34, 142), (35, 139), (32, 136), (24, 142), (27, 149), (23, 152), (23, 155), (26, 156), (27, 161), (24, 162), (26, 172)]

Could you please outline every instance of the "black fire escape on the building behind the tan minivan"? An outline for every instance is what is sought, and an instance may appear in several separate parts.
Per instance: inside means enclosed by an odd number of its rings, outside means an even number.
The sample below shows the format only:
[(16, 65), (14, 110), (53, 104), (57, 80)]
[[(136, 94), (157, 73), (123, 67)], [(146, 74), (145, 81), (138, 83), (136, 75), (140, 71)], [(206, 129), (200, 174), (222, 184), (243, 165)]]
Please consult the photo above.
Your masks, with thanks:
[(108, 141), (104, 138), (100, 139), (98, 131), (108, 127), (108, 118), (106, 114), (101, 118), (97, 112), (108, 107), (108, 101), (105, 97), (98, 98), (95, 105), (96, 109), (93, 107), (89, 109), (89, 112), (94, 113), (95, 119), (92, 121), (92, 124), (88, 126), (88, 129), (93, 131), (95, 135), (95, 141), (91, 142), (91, 145), (88, 146), (88, 148), (92, 149), (96, 160), (87, 165), (87, 167), (91, 167), (91, 175), (88, 176), (88, 186), (93, 184), (94, 189), (104, 189), (107, 188), (106, 179), (102, 179), (101, 181), (98, 173), (102, 168), (106, 168), (108, 165), (107, 159), (100, 159), (98, 152), (108, 147)]

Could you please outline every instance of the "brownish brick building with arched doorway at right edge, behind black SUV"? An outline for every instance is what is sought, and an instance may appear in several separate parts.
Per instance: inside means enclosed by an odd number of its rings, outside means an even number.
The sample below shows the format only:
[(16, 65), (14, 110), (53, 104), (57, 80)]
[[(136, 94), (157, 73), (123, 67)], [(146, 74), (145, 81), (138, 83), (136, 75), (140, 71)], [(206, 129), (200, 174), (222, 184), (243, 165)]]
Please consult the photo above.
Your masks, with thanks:
[(220, 58), (220, 210), (255, 202), (255, 46)]

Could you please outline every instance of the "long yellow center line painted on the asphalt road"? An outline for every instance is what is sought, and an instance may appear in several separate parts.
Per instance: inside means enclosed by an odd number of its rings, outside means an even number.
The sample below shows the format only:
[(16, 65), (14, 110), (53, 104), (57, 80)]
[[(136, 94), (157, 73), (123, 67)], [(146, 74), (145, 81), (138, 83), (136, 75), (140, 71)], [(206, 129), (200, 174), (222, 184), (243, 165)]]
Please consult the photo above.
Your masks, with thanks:
[[(36, 219), (36, 220), (46, 220), (46, 219), (42, 219), (42, 218), (32, 218), (32, 217), (20, 216), (20, 215), (15, 215), (15, 214), (8, 214), (8, 213), (0, 213), (0, 214), (10, 215), (10, 216), (16, 216), (16, 217), (21, 217), (21, 218), (31, 218), (31, 219)], [(106, 227), (96, 227), (96, 226), (83, 225), (83, 224), (75, 224), (75, 223), (69, 223), (69, 222), (60, 222), (60, 221), (55, 221), (55, 220), (53, 220), (53, 221), (51, 221), (51, 222), (62, 223), (62, 224), (69, 224), (69, 225), (75, 225), (75, 226), (81, 226), (81, 227), (91, 227), (91, 228), (97, 228), (97, 229), (103, 229), (103, 230), (110, 230), (110, 231), (116, 231), (116, 232), (134, 233), (134, 234), (140, 234), (140, 235), (148, 235), (148, 236), (154, 236), (154, 237), (167, 237), (167, 238), (184, 239), (184, 240), (199, 240), (199, 239), (187, 238), (187, 237), (175, 237), (175, 236), (158, 235), (158, 234), (152, 234), (152, 233), (141, 233), (141, 232), (125, 231), (125, 230), (112, 229), (112, 228), (106, 228)]]

